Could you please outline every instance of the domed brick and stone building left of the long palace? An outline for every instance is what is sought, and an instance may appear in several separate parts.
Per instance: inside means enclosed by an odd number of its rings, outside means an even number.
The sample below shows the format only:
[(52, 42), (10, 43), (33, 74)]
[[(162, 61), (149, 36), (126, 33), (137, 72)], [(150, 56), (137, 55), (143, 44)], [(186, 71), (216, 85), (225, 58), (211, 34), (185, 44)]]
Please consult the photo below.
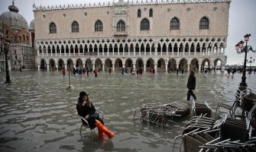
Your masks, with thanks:
[(9, 70), (34, 69), (34, 48), (31, 46), (28, 22), (18, 14), (19, 9), (15, 6), (14, 0), (8, 9), (9, 11), (0, 15), (0, 24), (2, 37), (9, 43)]

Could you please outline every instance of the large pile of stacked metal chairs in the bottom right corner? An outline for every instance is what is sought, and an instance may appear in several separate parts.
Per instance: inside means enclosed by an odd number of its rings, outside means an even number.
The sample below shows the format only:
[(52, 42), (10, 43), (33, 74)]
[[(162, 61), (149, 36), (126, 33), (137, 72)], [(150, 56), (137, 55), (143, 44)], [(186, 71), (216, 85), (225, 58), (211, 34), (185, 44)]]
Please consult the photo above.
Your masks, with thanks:
[[(236, 99), (232, 105), (219, 103), (216, 112), (219, 112), (220, 108), (228, 109), (225, 116), (220, 119), (216, 119), (216, 116), (215, 119), (209, 118), (210, 112), (208, 111), (210, 108), (207, 106), (208, 104), (193, 103), (194, 116), (186, 124), (183, 135), (174, 138), (173, 150), (177, 144), (177, 139), (181, 138), (180, 151), (183, 149), (185, 152), (256, 152), (256, 102), (253, 92), (248, 88), (240, 90), (240, 93), (236, 94)], [(245, 119), (235, 118), (235, 109), (238, 106), (245, 112), (245, 116), (241, 117)], [(199, 114), (197, 111), (202, 112), (200, 116), (197, 116)]]

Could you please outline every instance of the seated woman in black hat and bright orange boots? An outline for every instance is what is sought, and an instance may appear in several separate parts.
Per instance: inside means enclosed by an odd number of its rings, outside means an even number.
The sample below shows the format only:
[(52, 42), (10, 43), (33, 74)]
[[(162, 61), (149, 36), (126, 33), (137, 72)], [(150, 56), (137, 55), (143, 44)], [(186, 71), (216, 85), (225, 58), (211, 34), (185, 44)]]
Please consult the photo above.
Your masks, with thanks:
[[(78, 102), (76, 103), (78, 115), (87, 120), (90, 128), (98, 128), (100, 138), (103, 138), (104, 133), (109, 138), (113, 138), (115, 134), (105, 127), (104, 122), (99, 118), (99, 113), (96, 113), (95, 107), (90, 102), (88, 95), (85, 91), (79, 93)], [(86, 122), (83, 121), (83, 124), (86, 124)]]

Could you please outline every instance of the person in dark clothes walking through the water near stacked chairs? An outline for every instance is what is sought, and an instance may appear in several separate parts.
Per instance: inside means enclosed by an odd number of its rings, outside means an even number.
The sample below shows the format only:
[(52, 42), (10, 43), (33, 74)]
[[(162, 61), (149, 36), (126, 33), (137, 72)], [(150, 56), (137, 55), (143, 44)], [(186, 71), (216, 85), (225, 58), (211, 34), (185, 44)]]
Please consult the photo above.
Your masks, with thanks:
[(189, 89), (187, 91), (187, 99), (186, 100), (190, 101), (190, 96), (192, 96), (194, 98), (194, 100), (196, 100), (196, 95), (193, 93), (193, 90), (195, 90), (195, 88), (196, 88), (196, 77), (195, 77), (194, 71), (190, 71), (190, 77), (188, 78), (186, 87)]

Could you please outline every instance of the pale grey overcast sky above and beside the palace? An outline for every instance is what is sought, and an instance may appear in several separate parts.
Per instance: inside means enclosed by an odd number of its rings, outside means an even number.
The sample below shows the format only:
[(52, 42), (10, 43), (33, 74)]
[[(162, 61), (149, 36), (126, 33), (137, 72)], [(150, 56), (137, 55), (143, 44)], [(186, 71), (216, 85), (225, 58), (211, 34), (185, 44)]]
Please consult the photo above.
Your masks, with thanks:
[[(130, 0), (131, 2), (132, 0)], [(137, 1), (137, 0), (134, 0)], [(141, 1), (141, 0), (139, 0)], [(144, 0), (145, 2), (146, 0)], [(148, 0), (150, 1), (150, 0)], [(155, 1), (155, 0), (154, 0)], [(158, 0), (160, 1), (160, 0)], [(165, 1), (165, 0), (164, 0)], [(12, 0), (0, 0), (0, 14), (8, 10)], [(27, 21), (28, 26), (34, 19), (32, 5), (64, 5), (64, 4), (89, 4), (99, 2), (113, 2), (113, 0), (15, 0), (15, 5), (19, 8), (21, 14)], [(118, 2), (118, 0), (114, 0)], [(124, 0), (127, 2), (127, 0)], [(244, 40), (246, 33), (251, 33), (248, 45), (256, 49), (256, 0), (232, 0), (229, 9), (229, 26), (228, 26), (228, 43), (225, 48), (225, 55), (228, 56), (227, 65), (241, 65), (245, 59), (245, 53), (238, 54), (235, 50), (235, 44), (240, 40)], [(249, 52), (249, 57), (256, 59), (256, 52)], [(254, 64), (256, 65), (256, 62)]]

